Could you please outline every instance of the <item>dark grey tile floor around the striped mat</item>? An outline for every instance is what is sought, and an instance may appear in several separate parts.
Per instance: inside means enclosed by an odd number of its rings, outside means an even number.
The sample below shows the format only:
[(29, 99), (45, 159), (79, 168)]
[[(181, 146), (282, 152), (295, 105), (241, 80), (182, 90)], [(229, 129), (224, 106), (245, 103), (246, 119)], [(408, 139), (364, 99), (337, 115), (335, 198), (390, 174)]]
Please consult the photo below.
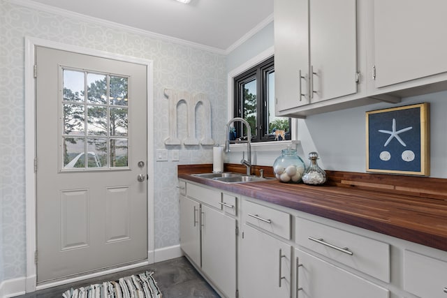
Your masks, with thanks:
[(86, 281), (79, 281), (70, 285), (59, 285), (16, 298), (61, 298), (62, 293), (70, 288), (79, 288), (101, 283), (102, 281), (116, 281), (120, 277), (138, 274), (142, 271), (154, 271), (154, 278), (157, 281), (163, 298), (219, 298), (211, 286), (198, 274), (198, 271), (184, 257), (158, 262), (145, 267), (138, 267), (121, 271), (115, 274), (108, 274), (92, 278)]

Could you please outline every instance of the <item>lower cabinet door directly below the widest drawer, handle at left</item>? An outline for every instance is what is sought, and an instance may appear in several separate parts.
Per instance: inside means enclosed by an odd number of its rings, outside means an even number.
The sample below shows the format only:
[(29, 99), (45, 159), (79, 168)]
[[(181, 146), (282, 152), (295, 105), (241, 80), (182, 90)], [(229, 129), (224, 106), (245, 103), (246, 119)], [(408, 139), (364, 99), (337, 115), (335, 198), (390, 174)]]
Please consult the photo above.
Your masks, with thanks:
[(388, 298), (390, 291), (295, 249), (297, 298)]

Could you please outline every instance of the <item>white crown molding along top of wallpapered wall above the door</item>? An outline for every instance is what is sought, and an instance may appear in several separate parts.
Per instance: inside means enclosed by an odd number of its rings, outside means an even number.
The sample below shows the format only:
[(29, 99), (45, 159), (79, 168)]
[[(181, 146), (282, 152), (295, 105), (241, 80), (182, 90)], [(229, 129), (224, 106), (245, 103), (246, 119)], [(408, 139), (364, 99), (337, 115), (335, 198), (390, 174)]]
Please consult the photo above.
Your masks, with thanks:
[(56, 8), (54, 6), (48, 6), (46, 4), (43, 3), (38, 3), (32, 0), (5, 0), (6, 2), (15, 4), (15, 5), (20, 5), (20, 6), (25, 6), (27, 8), (33, 8), (36, 10), (41, 10), (41, 11), (45, 11), (46, 13), (53, 13), (55, 15), (61, 15), (64, 17), (72, 17), (75, 18), (77, 20), (82, 20), (85, 22), (90, 22), (90, 23), (94, 23), (94, 24), (100, 24), (103, 25), (105, 27), (109, 27), (109, 28), (115, 28), (115, 29), (122, 29), (125, 31), (129, 31), (130, 33), (136, 33), (142, 36), (147, 36), (150, 38), (156, 38), (159, 40), (164, 40), (170, 43), (176, 43), (179, 45), (187, 45), (189, 47), (194, 47), (197, 48), (199, 50), (206, 50), (209, 52), (214, 52), (215, 54), (226, 54), (226, 50), (221, 50), (217, 47), (210, 47), (207, 45), (202, 45), (200, 43), (193, 43), (191, 41), (188, 40), (184, 40), (184, 39), (180, 39), (180, 38), (175, 38), (172, 36), (166, 36), (163, 34), (159, 34), (159, 33), (155, 33), (152, 31), (146, 31), (146, 30), (142, 30), (142, 29), (138, 29), (135, 27), (131, 27), (131, 26), (126, 26), (124, 24), (119, 24), (117, 22), (110, 22), (107, 20), (103, 20), (100, 19), (98, 17), (91, 17), (89, 15), (83, 15), (81, 13), (75, 13), (73, 11), (70, 10), (65, 10), (65, 9), (61, 9), (61, 8)]

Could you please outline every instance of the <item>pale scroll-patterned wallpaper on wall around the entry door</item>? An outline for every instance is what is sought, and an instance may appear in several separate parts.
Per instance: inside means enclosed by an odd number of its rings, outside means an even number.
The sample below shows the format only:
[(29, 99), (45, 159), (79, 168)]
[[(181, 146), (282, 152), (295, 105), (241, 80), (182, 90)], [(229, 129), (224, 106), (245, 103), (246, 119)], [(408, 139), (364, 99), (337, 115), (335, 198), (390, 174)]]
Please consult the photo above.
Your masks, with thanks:
[[(31, 36), (154, 61), (154, 151), (166, 148), (168, 100), (163, 89), (204, 93), (212, 107), (212, 137), (223, 143), (225, 57), (208, 50), (57, 15), (0, 0), (0, 282), (26, 275), (24, 185), (24, 37)], [(179, 110), (182, 110), (182, 106)], [(198, 107), (200, 113), (201, 107)], [(179, 112), (179, 116), (186, 113)], [(221, 117), (216, 117), (221, 115)], [(225, 116), (223, 116), (225, 115)], [(150, 120), (149, 120), (150, 121)], [(179, 128), (186, 119), (179, 119)], [(179, 130), (179, 135), (185, 132)], [(156, 162), (155, 247), (179, 243), (177, 163), (211, 163), (212, 147), (175, 146), (179, 162)], [(3, 264), (2, 264), (3, 262)]]

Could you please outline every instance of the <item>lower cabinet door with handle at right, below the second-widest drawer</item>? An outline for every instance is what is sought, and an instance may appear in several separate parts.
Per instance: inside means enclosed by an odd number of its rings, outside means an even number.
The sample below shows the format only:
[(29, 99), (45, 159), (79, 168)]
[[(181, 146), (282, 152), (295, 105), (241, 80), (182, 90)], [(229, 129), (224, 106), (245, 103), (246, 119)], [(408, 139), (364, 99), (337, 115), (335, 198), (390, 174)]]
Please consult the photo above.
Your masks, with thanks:
[(291, 245), (244, 225), (240, 297), (291, 297)]

